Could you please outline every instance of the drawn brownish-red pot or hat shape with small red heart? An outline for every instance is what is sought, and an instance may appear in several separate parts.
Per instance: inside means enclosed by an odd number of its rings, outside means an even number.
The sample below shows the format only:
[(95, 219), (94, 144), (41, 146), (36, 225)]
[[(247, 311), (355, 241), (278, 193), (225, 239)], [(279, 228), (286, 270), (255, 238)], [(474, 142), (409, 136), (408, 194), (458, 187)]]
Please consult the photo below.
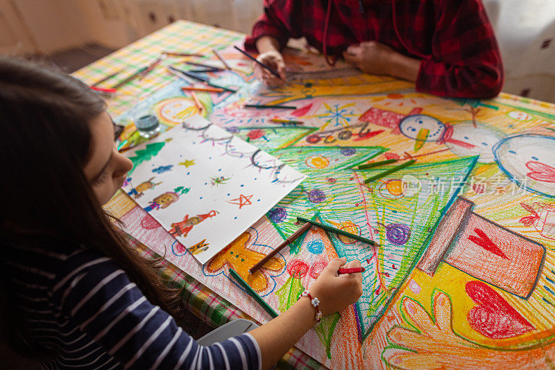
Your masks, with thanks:
[(527, 299), (536, 286), (545, 247), (472, 212), (458, 197), (439, 222), (418, 269), (434, 276), (441, 261)]

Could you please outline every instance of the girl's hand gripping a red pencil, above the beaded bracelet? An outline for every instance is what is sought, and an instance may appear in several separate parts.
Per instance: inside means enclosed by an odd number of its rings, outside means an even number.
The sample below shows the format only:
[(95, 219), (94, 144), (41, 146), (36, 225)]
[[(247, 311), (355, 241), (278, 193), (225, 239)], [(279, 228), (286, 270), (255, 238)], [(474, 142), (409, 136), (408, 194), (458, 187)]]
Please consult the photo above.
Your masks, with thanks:
[(339, 311), (359, 300), (362, 295), (362, 274), (337, 274), (340, 268), (360, 267), (360, 261), (350, 261), (347, 258), (334, 258), (325, 267), (318, 279), (312, 283), (309, 292), (312, 297), (320, 300), (320, 310), (323, 316)]

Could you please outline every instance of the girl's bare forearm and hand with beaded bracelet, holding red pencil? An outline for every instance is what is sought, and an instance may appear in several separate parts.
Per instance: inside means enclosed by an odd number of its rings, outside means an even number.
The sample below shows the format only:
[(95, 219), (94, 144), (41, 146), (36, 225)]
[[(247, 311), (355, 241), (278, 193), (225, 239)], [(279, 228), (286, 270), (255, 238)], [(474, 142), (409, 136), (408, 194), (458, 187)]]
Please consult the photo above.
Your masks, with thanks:
[[(337, 270), (345, 261), (345, 258), (330, 261), (309, 288), (312, 297), (320, 300), (323, 316), (355, 303), (362, 294), (362, 274), (337, 276)], [(348, 267), (360, 267), (360, 262), (351, 261)], [(316, 310), (310, 299), (301, 297), (289, 310), (250, 331), (262, 353), (262, 369), (275, 364), (315, 324)]]

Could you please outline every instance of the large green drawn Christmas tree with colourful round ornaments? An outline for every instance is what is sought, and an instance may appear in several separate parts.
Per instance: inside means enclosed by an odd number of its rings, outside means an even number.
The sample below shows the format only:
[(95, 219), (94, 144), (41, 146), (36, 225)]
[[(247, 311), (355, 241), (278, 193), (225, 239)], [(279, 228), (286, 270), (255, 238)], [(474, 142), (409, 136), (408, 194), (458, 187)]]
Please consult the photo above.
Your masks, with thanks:
[[(308, 177), (267, 215), (282, 236), (298, 229), (296, 217), (312, 218), (377, 241), (380, 247), (329, 234), (337, 254), (368, 266), (364, 293), (355, 304), (359, 339), (370, 333), (415, 263), (427, 236), (474, 168), (476, 157), (415, 164), (369, 186), (364, 179), (384, 168), (350, 170), (384, 150), (379, 147), (303, 147), (271, 154)], [(404, 178), (405, 175), (410, 177)], [(412, 181), (410, 181), (412, 179)], [(408, 184), (411, 188), (404, 189)], [(291, 245), (291, 254), (301, 243)]]

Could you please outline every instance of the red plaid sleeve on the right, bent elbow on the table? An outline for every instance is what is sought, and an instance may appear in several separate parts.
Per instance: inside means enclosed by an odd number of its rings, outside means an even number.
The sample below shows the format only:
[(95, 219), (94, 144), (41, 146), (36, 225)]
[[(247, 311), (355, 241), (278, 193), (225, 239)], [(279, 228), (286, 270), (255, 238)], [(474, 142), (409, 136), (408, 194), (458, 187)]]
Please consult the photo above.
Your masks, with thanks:
[[(445, 5), (449, 4), (449, 6)], [(439, 96), (493, 98), (503, 86), (501, 54), (477, 0), (444, 1), (416, 89)]]

